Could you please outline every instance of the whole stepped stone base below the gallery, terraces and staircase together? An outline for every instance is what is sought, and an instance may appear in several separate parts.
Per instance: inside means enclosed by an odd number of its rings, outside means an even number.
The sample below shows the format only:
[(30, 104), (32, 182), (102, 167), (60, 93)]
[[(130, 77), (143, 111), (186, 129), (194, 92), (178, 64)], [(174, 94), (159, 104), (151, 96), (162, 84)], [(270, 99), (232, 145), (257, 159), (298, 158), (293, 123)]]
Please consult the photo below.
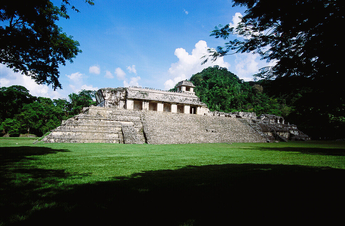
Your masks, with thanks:
[(45, 143), (185, 144), (266, 142), (237, 118), (92, 106), (64, 121)]

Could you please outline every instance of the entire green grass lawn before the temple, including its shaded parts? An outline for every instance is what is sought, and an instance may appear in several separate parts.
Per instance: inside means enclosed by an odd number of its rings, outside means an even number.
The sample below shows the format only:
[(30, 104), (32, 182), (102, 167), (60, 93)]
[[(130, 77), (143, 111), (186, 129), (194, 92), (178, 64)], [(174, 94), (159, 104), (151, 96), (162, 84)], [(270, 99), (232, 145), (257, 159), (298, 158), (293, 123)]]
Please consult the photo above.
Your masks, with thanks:
[(344, 210), (333, 202), (344, 201), (345, 142), (32, 142), (0, 140), (0, 224), (217, 225)]

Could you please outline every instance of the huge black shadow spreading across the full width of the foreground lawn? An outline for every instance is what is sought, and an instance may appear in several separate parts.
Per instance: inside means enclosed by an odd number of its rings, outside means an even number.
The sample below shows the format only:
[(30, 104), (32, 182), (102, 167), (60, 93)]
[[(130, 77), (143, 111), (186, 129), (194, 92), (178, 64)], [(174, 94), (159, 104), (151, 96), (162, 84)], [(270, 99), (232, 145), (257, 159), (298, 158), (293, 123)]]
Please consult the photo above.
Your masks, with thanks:
[[(46, 173), (51, 183), (71, 177), (63, 171)], [(299, 165), (186, 166), (65, 188), (25, 188), (23, 200), (7, 202), (12, 208), (1, 215), (23, 225), (220, 225), (273, 217), (287, 222), (337, 216), (332, 205), (343, 204), (344, 176), (342, 169)], [(36, 187), (46, 183), (33, 181)], [(20, 183), (9, 186), (14, 187), (6, 189), (6, 200), (22, 188)]]

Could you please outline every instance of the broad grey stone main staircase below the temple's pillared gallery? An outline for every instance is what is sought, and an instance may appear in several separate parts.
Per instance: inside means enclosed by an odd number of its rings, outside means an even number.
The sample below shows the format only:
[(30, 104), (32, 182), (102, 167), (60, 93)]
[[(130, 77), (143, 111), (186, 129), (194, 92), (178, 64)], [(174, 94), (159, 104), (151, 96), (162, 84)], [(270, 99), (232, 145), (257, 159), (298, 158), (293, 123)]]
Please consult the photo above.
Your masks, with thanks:
[(149, 144), (266, 142), (248, 124), (237, 118), (143, 112)]

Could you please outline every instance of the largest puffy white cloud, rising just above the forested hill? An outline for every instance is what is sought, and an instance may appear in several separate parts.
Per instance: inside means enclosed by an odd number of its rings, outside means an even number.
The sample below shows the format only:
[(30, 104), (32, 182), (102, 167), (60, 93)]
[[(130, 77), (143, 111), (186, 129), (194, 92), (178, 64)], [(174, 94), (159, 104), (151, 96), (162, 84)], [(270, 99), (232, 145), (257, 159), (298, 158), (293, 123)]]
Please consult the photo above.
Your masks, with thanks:
[(223, 68), (230, 67), (230, 64), (228, 62), (224, 62), (222, 57), (218, 58), (215, 62), (209, 60), (204, 65), (201, 65), (203, 59), (200, 58), (208, 54), (207, 49), (209, 49), (209, 47), (207, 46), (206, 41), (203, 40), (200, 40), (195, 44), (195, 48), (192, 50), (191, 54), (183, 48), (177, 48), (175, 50), (175, 56), (178, 58), (178, 61), (176, 63), (172, 63), (169, 68), (171, 79), (164, 82), (165, 89), (174, 88), (177, 82), (190, 78), (193, 74), (202, 71), (204, 68), (214, 65), (218, 65)]

